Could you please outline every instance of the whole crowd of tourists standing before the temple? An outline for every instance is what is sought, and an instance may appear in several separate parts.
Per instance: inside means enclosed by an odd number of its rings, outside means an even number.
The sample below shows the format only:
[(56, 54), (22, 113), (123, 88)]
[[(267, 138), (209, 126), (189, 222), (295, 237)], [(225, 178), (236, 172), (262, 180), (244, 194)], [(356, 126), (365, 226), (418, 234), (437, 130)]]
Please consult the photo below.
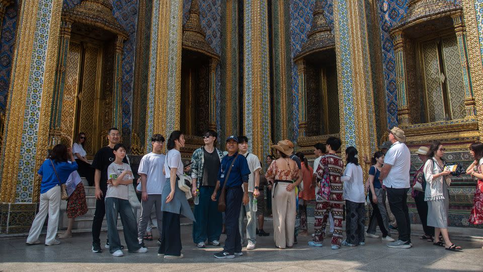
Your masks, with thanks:
[[(309, 246), (324, 246), (332, 236), (330, 246), (365, 245), (366, 238), (379, 238), (391, 248), (411, 248), (411, 222), (407, 194), (415, 199), (424, 235), (420, 239), (435, 246), (457, 251), (448, 233), (448, 186), (451, 177), (460, 173), (448, 169), (445, 148), (440, 142), (420, 147), (416, 154), (422, 166), (410, 177), (411, 154), (406, 136), (398, 127), (388, 129), (388, 142), (379, 146), (369, 160), (359, 162), (358, 150), (349, 146), (338, 155), (341, 140), (330, 137), (325, 144), (314, 145), (316, 159), (310, 165), (303, 153), (294, 154), (294, 145), (283, 140), (273, 145), (275, 157), (262, 162), (250, 153), (246, 136), (229, 136), (225, 152), (217, 146), (218, 134), (208, 130), (203, 135), (204, 146), (195, 150), (191, 162), (184, 165), (180, 150), (185, 146), (184, 134), (175, 130), (163, 154), (165, 138), (151, 137), (152, 151), (144, 155), (137, 173), (136, 190), (141, 212), (136, 219), (129, 202), (129, 186), (135, 180), (127, 149), (120, 143), (117, 128), (108, 131), (109, 145), (101, 148), (92, 164), (86, 159), (86, 134), (79, 133), (72, 149), (56, 145), (38, 170), (41, 178), (40, 208), (32, 223), (27, 245), (40, 244), (39, 235), (48, 215), (46, 245), (59, 244), (56, 239), (61, 198), (67, 199), (68, 228), (58, 238), (71, 237), (73, 219), (87, 213), (87, 203), (81, 176), (95, 186), (96, 211), (92, 224), (92, 252), (102, 252), (100, 233), (104, 217), (108, 239), (105, 248), (113, 256), (124, 253), (118, 233), (118, 217), (123, 226), (124, 241), (129, 253), (147, 252), (145, 240), (152, 240), (152, 225), (156, 223), (159, 239), (158, 256), (166, 259), (183, 257), (180, 217), (193, 221), (192, 239), (199, 248), (224, 245), (216, 258), (234, 258), (257, 247), (257, 235), (269, 236), (264, 230), (265, 213), (273, 217), (273, 239), (277, 248), (292, 248), (297, 236), (309, 235), (307, 204), (315, 200), (314, 228)], [(471, 224), (483, 224), (483, 144), (469, 147), (474, 161), (466, 174), (477, 179)], [(368, 179), (364, 182), (363, 167), (367, 164)], [(364, 167), (367, 169), (366, 167)], [(412, 182), (411, 182), (412, 181)], [(134, 182), (135, 184), (136, 182)], [(366, 186), (364, 186), (364, 183)], [(266, 194), (265, 194), (266, 193)], [(265, 198), (267, 201), (265, 201)], [(188, 199), (194, 202), (192, 211)], [(366, 205), (372, 213), (365, 230)], [(154, 210), (153, 210), (154, 208)], [(155, 214), (155, 220), (152, 215)], [(245, 223), (247, 218), (247, 223)], [(345, 219), (345, 239), (342, 224)], [(326, 226), (330, 221), (330, 234)], [(245, 225), (246, 224), (246, 225)], [(398, 232), (397, 240), (390, 229)]]

